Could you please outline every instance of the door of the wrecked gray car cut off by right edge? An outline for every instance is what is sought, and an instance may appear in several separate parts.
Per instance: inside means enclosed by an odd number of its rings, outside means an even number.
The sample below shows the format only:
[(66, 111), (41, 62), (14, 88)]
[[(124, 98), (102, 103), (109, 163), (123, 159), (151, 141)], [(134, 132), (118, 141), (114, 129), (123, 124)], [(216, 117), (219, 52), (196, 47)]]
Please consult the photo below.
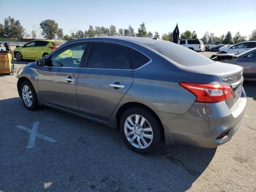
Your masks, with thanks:
[(256, 80), (256, 51), (238, 58), (238, 65), (244, 68), (244, 78)]

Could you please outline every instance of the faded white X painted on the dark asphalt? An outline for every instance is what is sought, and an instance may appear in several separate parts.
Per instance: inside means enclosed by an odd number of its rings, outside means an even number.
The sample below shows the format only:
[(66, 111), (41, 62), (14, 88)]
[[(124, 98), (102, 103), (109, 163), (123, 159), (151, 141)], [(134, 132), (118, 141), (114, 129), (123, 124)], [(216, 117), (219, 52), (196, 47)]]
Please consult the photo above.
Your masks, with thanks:
[(21, 126), (21, 125), (17, 126), (17, 128), (30, 133), (27, 149), (34, 147), (34, 143), (35, 143), (36, 137), (39, 137), (39, 138), (44, 139), (46, 141), (49, 141), (51, 143), (56, 141), (56, 140), (54, 140), (54, 139), (52, 139), (50, 137), (47, 137), (47, 136), (45, 136), (43, 134), (39, 134), (37, 132), (38, 124), (39, 124), (39, 122), (34, 122), (34, 125), (33, 125), (32, 129), (28, 129), (28, 128), (26, 128), (24, 126)]

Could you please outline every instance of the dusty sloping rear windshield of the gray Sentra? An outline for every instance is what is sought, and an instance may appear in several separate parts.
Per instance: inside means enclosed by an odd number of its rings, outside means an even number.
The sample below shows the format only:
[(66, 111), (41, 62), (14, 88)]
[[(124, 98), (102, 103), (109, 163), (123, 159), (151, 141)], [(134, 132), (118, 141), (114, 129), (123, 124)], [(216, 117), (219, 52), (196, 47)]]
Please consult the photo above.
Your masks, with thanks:
[(143, 44), (184, 66), (199, 66), (214, 63), (214, 61), (206, 56), (172, 42), (148, 42)]

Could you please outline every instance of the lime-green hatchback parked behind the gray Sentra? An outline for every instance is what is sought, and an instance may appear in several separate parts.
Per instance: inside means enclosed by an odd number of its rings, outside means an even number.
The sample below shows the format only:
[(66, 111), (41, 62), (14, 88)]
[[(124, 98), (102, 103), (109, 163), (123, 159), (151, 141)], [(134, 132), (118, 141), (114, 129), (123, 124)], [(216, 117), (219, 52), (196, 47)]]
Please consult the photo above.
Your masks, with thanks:
[(18, 61), (45, 57), (64, 43), (65, 41), (60, 40), (33, 40), (17, 47), (14, 50), (14, 56)]

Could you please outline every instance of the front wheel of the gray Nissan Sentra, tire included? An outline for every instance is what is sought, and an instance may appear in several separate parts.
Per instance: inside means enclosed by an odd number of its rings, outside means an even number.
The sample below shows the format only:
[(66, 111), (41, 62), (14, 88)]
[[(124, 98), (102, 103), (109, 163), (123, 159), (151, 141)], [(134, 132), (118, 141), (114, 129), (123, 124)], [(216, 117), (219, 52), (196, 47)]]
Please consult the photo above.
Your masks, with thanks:
[(28, 110), (35, 110), (38, 107), (36, 92), (32, 84), (24, 81), (21, 84), (20, 92), (22, 95), (22, 102)]

